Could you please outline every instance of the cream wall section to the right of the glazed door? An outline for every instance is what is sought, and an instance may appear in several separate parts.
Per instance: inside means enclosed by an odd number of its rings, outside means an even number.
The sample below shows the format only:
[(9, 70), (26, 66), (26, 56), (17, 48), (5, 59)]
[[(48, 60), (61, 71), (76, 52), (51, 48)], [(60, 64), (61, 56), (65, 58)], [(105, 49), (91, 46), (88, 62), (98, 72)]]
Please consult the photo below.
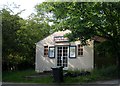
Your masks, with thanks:
[[(83, 46), (83, 56), (78, 56), (75, 59), (69, 59), (70, 70), (91, 70), (94, 67), (94, 50), (93, 41), (89, 42), (89, 46)], [(76, 42), (75, 45), (80, 44)]]

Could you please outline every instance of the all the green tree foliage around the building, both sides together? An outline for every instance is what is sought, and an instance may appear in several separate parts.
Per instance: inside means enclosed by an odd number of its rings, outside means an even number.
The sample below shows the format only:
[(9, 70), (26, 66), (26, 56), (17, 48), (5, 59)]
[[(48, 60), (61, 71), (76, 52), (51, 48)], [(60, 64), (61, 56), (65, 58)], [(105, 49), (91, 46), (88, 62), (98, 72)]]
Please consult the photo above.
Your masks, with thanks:
[[(24, 67), (22, 64), (34, 66), (35, 43), (54, 31), (66, 29), (72, 31), (68, 34), (71, 41), (80, 39), (83, 44), (94, 36), (105, 38), (99, 49), (105, 48), (112, 57), (119, 57), (119, 8), (120, 2), (44, 2), (36, 6), (37, 14), (31, 14), (28, 20), (3, 9), (4, 68), (19, 69)], [(49, 22), (53, 25), (49, 26)]]

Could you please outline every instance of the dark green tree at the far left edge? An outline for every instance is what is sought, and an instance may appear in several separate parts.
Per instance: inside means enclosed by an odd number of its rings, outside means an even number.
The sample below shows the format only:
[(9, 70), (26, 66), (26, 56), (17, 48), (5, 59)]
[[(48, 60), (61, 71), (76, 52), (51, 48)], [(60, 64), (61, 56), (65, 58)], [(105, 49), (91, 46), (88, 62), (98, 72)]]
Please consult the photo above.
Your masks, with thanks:
[[(17, 56), (17, 35), (16, 31), (20, 29), (19, 20), (21, 19), (18, 15), (11, 15), (9, 11), (3, 9), (2, 15), (2, 57), (3, 67), (13, 67), (21, 59)], [(17, 56), (17, 58), (14, 58)], [(12, 61), (12, 62), (11, 62)]]

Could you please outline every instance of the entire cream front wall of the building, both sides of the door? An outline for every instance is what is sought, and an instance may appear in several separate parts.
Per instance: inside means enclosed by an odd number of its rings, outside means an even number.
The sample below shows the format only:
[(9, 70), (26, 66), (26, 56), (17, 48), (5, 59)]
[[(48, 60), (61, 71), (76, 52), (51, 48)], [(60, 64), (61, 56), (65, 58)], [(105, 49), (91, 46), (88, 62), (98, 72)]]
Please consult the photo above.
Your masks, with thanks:
[[(50, 59), (49, 57), (44, 57), (44, 46), (54, 46), (59, 45), (53, 41), (54, 36), (65, 34), (67, 32), (56, 32), (42, 41), (36, 44), (36, 60), (35, 60), (35, 70), (37, 72), (50, 71), (51, 67), (55, 66), (55, 58)], [(77, 56), (74, 59), (68, 58), (68, 69), (70, 70), (91, 70), (94, 66), (94, 50), (93, 50), (93, 41), (89, 41), (89, 46), (84, 46), (83, 56)], [(64, 45), (64, 43), (61, 43)], [(69, 44), (69, 43), (67, 43)], [(71, 45), (78, 45), (80, 41), (72, 42)]]

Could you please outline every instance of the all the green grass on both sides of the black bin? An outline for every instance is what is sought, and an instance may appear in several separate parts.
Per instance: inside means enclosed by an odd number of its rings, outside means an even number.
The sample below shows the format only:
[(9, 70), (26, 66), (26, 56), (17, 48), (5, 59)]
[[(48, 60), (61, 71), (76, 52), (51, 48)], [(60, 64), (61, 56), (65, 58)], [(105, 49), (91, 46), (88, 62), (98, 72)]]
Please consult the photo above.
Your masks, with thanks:
[[(79, 73), (81, 71), (68, 71), (71, 73)], [(25, 76), (30, 76), (36, 74), (34, 70), (25, 71), (13, 71), (13, 72), (3, 72), (3, 82), (24, 82), (24, 83), (53, 83), (53, 77), (51, 75), (42, 78), (25, 78)], [(117, 77), (116, 66), (110, 66), (102, 69), (94, 69), (91, 71), (90, 75), (78, 76), (78, 77), (64, 77), (64, 83), (87, 83), (98, 80), (108, 80)]]

